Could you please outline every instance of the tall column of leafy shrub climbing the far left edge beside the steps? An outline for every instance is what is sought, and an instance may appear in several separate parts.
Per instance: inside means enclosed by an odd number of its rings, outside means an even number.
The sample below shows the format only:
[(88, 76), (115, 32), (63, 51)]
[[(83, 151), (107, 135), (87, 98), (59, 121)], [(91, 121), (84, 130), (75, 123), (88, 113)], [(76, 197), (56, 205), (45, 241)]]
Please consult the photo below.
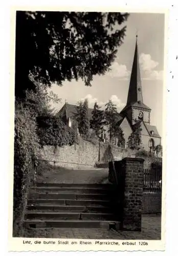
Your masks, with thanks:
[(35, 116), (23, 107), (15, 109), (14, 135), (14, 187), (13, 187), (13, 236), (23, 236), (23, 219), (28, 187), (35, 176), (34, 160), (38, 157), (38, 137)]

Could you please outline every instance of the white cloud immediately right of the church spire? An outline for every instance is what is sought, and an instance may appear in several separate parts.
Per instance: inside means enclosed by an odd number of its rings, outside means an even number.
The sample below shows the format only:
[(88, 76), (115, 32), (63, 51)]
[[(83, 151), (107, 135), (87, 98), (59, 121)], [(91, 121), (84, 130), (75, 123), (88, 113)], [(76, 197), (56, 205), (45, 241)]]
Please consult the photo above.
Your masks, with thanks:
[(159, 65), (159, 62), (151, 59), (150, 54), (145, 54), (145, 53), (142, 53), (140, 55), (139, 62), (141, 64), (142, 70), (144, 71), (152, 70)]

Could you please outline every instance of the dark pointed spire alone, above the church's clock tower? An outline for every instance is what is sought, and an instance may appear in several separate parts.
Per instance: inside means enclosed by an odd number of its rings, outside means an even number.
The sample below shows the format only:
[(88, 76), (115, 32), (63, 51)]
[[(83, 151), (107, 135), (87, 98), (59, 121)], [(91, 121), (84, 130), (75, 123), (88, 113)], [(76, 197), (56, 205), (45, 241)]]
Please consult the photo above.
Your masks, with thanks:
[(138, 102), (138, 101), (143, 103), (137, 37), (138, 35), (136, 35), (136, 49), (135, 49), (135, 54), (133, 58), (131, 76), (130, 76), (127, 105), (129, 105), (130, 103)]

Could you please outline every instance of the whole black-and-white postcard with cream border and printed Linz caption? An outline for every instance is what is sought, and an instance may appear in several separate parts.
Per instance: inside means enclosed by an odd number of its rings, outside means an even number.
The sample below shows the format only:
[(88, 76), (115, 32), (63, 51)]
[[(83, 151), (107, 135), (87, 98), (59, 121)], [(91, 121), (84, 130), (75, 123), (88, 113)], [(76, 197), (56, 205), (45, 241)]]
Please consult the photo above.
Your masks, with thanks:
[(167, 13), (11, 11), (9, 249), (165, 249)]

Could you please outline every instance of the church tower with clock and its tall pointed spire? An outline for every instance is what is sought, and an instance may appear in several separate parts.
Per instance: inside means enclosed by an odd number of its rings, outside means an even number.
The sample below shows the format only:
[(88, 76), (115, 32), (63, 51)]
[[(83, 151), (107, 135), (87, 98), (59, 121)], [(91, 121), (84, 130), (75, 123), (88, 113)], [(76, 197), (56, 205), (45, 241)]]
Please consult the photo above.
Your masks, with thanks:
[(151, 109), (143, 103), (139, 54), (136, 39), (136, 48), (133, 57), (127, 104), (120, 114), (122, 116), (126, 116), (132, 125), (141, 120), (147, 124), (150, 124), (150, 112)]

